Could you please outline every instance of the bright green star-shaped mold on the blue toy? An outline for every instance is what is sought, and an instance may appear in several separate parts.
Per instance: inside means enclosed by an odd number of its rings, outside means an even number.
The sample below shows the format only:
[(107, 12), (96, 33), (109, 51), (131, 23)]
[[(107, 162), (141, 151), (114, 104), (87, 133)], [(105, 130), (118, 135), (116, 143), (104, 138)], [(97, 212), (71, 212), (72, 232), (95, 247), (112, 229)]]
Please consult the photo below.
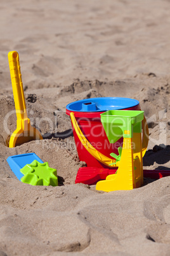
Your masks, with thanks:
[(48, 162), (40, 163), (34, 160), (31, 164), (26, 164), (20, 172), (24, 174), (21, 178), (23, 183), (30, 185), (58, 186), (56, 169), (49, 167)]

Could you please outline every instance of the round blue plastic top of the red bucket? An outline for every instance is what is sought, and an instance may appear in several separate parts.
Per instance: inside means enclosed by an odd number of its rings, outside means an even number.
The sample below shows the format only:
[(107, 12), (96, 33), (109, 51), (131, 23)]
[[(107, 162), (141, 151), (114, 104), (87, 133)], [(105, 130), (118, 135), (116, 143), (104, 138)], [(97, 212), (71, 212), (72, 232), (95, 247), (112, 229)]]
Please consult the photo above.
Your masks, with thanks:
[(77, 112), (100, 112), (107, 110), (123, 110), (137, 106), (139, 101), (136, 99), (122, 97), (100, 97), (92, 99), (82, 99), (74, 101), (66, 106), (69, 111)]

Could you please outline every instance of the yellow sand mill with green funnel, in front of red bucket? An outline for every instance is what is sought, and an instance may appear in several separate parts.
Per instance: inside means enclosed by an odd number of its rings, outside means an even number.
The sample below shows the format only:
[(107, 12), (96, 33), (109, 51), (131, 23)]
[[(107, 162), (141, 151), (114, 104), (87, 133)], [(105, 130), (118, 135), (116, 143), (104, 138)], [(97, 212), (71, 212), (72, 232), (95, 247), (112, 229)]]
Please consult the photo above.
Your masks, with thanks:
[(116, 162), (119, 166), (117, 173), (108, 175), (106, 180), (98, 181), (96, 190), (131, 190), (143, 184), (142, 120), (143, 111), (109, 110), (101, 114), (101, 122), (110, 143), (115, 143), (119, 136), (123, 136), (124, 140), (121, 160)]

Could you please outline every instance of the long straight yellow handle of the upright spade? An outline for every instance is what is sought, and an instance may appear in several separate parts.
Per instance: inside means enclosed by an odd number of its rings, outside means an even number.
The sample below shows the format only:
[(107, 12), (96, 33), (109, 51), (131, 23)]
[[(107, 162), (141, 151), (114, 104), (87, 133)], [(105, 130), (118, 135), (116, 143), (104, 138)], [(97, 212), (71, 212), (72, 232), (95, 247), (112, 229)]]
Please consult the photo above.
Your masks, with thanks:
[(22, 75), (20, 71), (20, 60), (18, 52), (9, 52), (8, 61), (10, 66), (11, 83), (13, 87), (13, 97), (15, 101), (16, 118), (17, 120), (25, 119), (28, 117), (25, 97), (23, 93)]

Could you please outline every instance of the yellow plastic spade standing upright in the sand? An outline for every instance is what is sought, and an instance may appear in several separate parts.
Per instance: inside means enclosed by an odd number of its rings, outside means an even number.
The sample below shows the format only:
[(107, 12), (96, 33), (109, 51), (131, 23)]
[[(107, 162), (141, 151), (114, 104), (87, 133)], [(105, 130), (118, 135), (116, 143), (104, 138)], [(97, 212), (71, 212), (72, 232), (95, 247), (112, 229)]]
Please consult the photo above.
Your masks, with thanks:
[(10, 65), (11, 82), (17, 118), (16, 130), (11, 135), (9, 143), (9, 147), (14, 148), (15, 146), (34, 139), (42, 139), (42, 135), (39, 131), (37, 131), (36, 128), (30, 125), (30, 119), (27, 117), (18, 52), (9, 52), (8, 61)]

